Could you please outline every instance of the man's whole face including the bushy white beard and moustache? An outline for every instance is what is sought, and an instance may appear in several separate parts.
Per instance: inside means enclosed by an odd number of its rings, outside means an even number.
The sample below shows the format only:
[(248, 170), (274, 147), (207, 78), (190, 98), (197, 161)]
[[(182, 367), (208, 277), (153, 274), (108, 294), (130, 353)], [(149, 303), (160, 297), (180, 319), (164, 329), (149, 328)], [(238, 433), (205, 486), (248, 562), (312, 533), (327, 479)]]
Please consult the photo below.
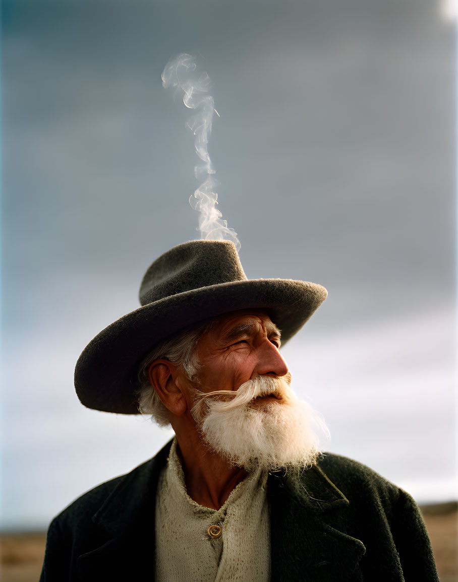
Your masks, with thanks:
[(191, 414), (210, 448), (247, 470), (315, 462), (316, 413), (290, 388), (280, 332), (264, 311), (214, 322), (198, 342)]

